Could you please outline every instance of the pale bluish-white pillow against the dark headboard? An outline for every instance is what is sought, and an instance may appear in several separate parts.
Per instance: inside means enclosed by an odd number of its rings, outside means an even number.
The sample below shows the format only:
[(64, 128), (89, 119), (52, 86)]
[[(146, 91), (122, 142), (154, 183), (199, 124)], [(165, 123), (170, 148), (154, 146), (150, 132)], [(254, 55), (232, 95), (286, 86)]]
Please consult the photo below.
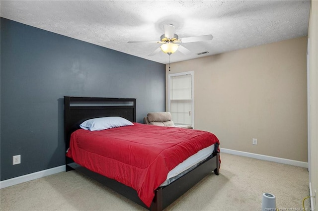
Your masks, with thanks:
[(119, 116), (109, 116), (109, 117), (100, 117), (88, 119), (79, 125), (80, 128), (84, 130), (96, 131), (96, 130), (105, 130), (114, 127), (122, 127), (134, 125), (132, 122), (128, 121), (125, 118)]

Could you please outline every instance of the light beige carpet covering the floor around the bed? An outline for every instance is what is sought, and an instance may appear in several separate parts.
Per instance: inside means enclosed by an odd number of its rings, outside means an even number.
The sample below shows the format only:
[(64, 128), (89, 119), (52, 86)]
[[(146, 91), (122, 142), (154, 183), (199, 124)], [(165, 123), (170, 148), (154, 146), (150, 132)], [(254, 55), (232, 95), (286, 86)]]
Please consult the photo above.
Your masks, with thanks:
[[(307, 168), (221, 154), (214, 173), (166, 211), (260, 211), (262, 194), (276, 196), (281, 210), (300, 210), (309, 196)], [(76, 172), (61, 172), (0, 190), (1, 211), (145, 211), (105, 186)], [(306, 200), (309, 208), (309, 200)]]

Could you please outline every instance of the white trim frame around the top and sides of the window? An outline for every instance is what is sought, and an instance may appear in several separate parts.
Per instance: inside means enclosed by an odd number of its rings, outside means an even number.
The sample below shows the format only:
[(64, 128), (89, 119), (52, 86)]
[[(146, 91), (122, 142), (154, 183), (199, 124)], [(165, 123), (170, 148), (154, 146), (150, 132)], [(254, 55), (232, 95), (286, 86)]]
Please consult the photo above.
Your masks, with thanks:
[(170, 102), (171, 77), (182, 76), (182, 75), (191, 75), (191, 124), (192, 124), (191, 126), (194, 128), (194, 71), (168, 74), (168, 111), (169, 112), (171, 111), (171, 102)]

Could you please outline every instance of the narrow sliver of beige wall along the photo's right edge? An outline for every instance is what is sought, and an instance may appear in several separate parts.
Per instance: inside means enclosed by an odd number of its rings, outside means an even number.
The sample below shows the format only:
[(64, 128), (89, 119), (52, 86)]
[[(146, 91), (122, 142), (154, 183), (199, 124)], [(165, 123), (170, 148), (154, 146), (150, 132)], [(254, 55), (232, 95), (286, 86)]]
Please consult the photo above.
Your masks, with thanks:
[[(312, 191), (318, 192), (318, 1), (312, 0), (310, 19), (309, 19), (309, 29), (308, 38), (310, 40), (309, 44), (309, 95), (311, 98), (311, 106), (309, 109), (310, 114), (310, 180), (312, 184)], [(314, 194), (314, 193), (313, 193)], [(316, 201), (316, 206), (314, 203), (314, 208), (318, 208), (318, 200)]]

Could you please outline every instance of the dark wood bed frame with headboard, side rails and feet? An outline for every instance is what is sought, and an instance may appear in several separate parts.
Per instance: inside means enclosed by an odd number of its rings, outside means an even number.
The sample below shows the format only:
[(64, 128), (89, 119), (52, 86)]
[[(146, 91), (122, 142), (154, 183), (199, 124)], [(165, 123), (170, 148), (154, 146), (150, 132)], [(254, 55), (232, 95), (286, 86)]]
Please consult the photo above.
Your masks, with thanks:
[[(132, 122), (136, 122), (136, 99), (127, 98), (85, 98), (64, 97), (65, 138), (66, 150), (70, 146), (71, 134), (79, 129), (79, 124), (87, 119), (104, 116), (121, 116)], [(117, 193), (125, 196), (137, 204), (151, 211), (162, 211), (172, 202), (182, 196), (191, 187), (197, 184), (212, 171), (219, 175), (219, 153), (214, 152), (209, 158), (201, 162), (196, 168), (189, 171), (165, 187), (159, 187), (155, 191), (155, 197), (148, 208), (138, 197), (137, 192), (113, 179), (92, 172), (66, 157), (66, 171), (76, 169), (81, 173), (97, 180)]]

